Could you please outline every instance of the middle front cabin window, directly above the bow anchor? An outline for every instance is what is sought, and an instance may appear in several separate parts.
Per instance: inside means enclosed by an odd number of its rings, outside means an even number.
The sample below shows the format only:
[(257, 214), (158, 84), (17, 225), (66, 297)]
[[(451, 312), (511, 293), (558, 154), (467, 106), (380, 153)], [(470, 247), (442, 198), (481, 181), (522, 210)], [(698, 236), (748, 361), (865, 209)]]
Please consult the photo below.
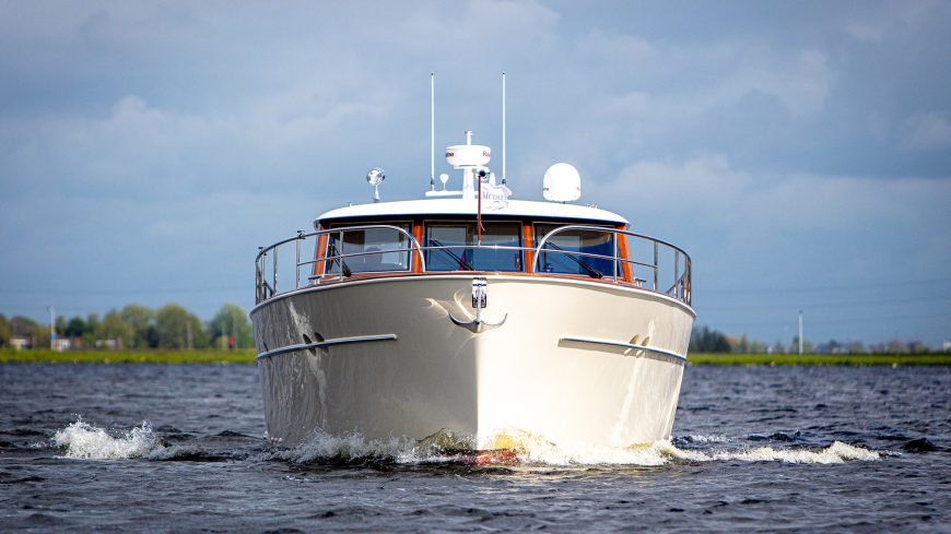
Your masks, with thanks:
[(521, 225), (482, 223), (482, 247), (474, 223), (426, 224), (427, 271), (521, 272)]

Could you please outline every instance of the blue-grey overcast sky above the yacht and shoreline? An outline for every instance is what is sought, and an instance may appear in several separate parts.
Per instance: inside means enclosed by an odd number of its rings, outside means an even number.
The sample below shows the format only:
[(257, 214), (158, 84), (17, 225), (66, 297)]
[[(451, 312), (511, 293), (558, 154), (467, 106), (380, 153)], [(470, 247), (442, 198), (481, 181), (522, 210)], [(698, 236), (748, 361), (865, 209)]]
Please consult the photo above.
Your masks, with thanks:
[[(257, 247), (474, 141), (694, 262), (697, 323), (951, 339), (951, 2), (0, 1), (0, 312), (249, 309)], [(449, 171), (437, 161), (437, 174)]]

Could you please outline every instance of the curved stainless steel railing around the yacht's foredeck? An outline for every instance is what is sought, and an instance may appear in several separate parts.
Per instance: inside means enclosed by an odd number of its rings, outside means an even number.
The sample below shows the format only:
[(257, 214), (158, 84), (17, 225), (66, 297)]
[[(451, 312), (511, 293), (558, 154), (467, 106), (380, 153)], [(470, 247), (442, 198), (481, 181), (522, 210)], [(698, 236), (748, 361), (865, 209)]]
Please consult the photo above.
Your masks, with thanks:
[[(307, 239), (310, 237), (318, 237), (319, 238), (321, 236), (334, 236), (336, 235), (336, 236), (338, 236), (337, 242), (344, 242), (344, 240), (343, 240), (344, 234), (351, 233), (351, 232), (363, 232), (363, 230), (368, 230), (368, 229), (396, 230), (401, 236), (407, 238), (407, 246), (399, 247), (399, 248), (385, 249), (385, 250), (372, 250), (372, 251), (364, 250), (361, 252), (349, 252), (345, 254), (339, 253), (336, 250), (333, 250), (331, 253), (329, 253), (327, 256), (315, 257), (313, 259), (308, 258), (304, 261), (302, 261), (302, 259), (301, 259), (301, 242), (304, 239)], [(563, 234), (565, 232), (573, 232), (573, 230), (598, 232), (598, 233), (610, 234), (612, 237), (612, 241), (613, 241), (613, 256), (599, 254), (599, 253), (594, 253), (594, 252), (584, 252), (580, 250), (577, 250), (577, 251), (576, 250), (565, 250), (562, 247), (559, 247), (557, 245), (555, 245), (554, 242), (551, 242), (551, 240), (554, 236)], [(627, 250), (629, 250), (630, 257), (622, 258), (621, 253), (619, 251), (619, 241), (618, 241), (618, 236), (622, 236), (622, 235), (626, 236), (629, 238), (638, 239), (638, 240), (646, 241), (646, 242), (653, 245), (653, 249), (654, 249), (653, 260), (646, 259), (644, 261), (638, 261), (638, 260), (635, 260), (633, 258), (633, 256), (630, 256), (631, 254), (630, 251), (632, 250), (630, 241), (627, 242)], [(297, 289), (301, 287), (301, 271), (300, 271), (301, 268), (308, 266), (308, 265), (316, 265), (318, 263), (327, 263), (327, 264), (333, 264), (334, 262), (339, 263), (340, 264), (340, 272), (339, 273), (329, 273), (329, 272), (314, 273), (312, 276), (306, 277), (306, 280), (309, 281), (309, 283), (320, 283), (320, 281), (326, 280), (327, 277), (331, 277), (331, 280), (342, 280), (344, 277), (350, 277), (353, 274), (353, 272), (352, 272), (352, 269), (349, 268), (347, 262), (344, 261), (345, 258), (364, 257), (364, 256), (373, 256), (373, 254), (384, 254), (384, 253), (392, 253), (392, 252), (408, 252), (408, 253), (410, 253), (410, 264), (407, 265), (406, 270), (409, 271), (410, 269), (412, 269), (412, 254), (415, 253), (416, 258), (419, 258), (419, 268), (420, 268), (419, 272), (425, 273), (425, 272), (428, 272), (426, 269), (426, 258), (425, 258), (426, 254), (425, 254), (425, 252), (428, 252), (431, 250), (433, 250), (433, 251), (442, 250), (443, 252), (446, 252), (446, 253), (450, 254), (451, 257), (454, 257), (454, 260), (458, 260), (460, 262), (462, 262), (463, 260), (461, 260), (461, 258), (458, 254), (454, 253), (453, 249), (517, 250), (517, 251), (523, 251), (523, 252), (533, 252), (533, 257), (532, 257), (532, 261), (531, 261), (531, 265), (530, 265), (531, 266), (530, 272), (533, 272), (533, 273), (540, 272), (539, 264), (541, 261), (541, 256), (543, 253), (544, 254), (561, 254), (561, 256), (565, 256), (568, 259), (576, 262), (578, 265), (582, 266), (582, 269), (585, 269), (585, 272), (587, 272), (592, 277), (598, 277), (598, 276), (595, 276), (592, 274), (592, 273), (598, 273), (598, 274), (601, 274), (604, 277), (604, 280), (613, 278), (614, 283), (619, 283), (621, 281), (626, 281), (630, 283), (632, 281), (631, 276), (633, 276), (633, 281), (638, 287), (641, 287), (642, 284), (647, 284), (649, 282), (653, 282), (653, 286), (649, 286), (650, 288), (653, 288), (653, 290), (655, 290), (657, 293), (665, 294), (665, 295), (670, 296), (672, 298), (676, 298), (678, 300), (681, 300), (686, 305), (691, 304), (691, 296), (692, 296), (691, 295), (691, 275), (692, 275), (693, 269), (692, 269), (692, 260), (691, 260), (690, 256), (684, 250), (682, 250), (681, 248), (679, 248), (674, 245), (671, 245), (671, 244), (664, 241), (661, 239), (656, 239), (656, 238), (645, 236), (642, 234), (635, 234), (633, 232), (618, 229), (618, 228), (611, 228), (611, 227), (604, 227), (604, 226), (565, 225), (565, 226), (560, 226), (557, 228), (554, 228), (551, 232), (549, 232), (548, 234), (545, 234), (545, 236), (542, 237), (542, 239), (539, 241), (537, 247), (513, 247), (513, 246), (506, 246), (506, 245), (476, 245), (476, 244), (473, 244), (473, 245), (445, 246), (442, 242), (436, 241), (436, 240), (431, 240), (431, 242), (434, 246), (423, 247), (422, 245), (420, 245), (420, 242), (416, 240), (416, 238), (413, 237), (413, 235), (409, 230), (401, 228), (399, 226), (385, 225), (385, 224), (357, 225), (357, 226), (345, 226), (345, 227), (341, 227), (341, 228), (328, 228), (328, 229), (324, 229), (324, 230), (313, 232), (310, 234), (304, 234), (303, 232), (298, 232), (296, 236), (294, 236), (290, 239), (284, 239), (284, 240), (278, 241), (278, 242), (271, 245), (270, 247), (261, 247), (258, 251), (258, 256), (255, 258), (255, 300), (256, 300), (256, 304), (260, 304), (261, 301), (267, 300), (267, 299), (279, 294), (278, 293), (278, 265), (277, 265), (278, 249), (281, 246), (287, 245), (290, 242), (295, 242), (296, 249), (297, 249), (296, 250), (296, 265), (295, 265), (295, 268), (297, 270), (296, 284), (295, 284), (296, 287), (294, 287), (294, 289)], [(660, 277), (660, 247), (665, 247), (666, 249), (670, 249), (670, 251), (673, 253), (673, 265), (672, 265), (673, 282), (667, 290), (661, 290), (661, 288), (659, 287), (659, 283), (661, 282), (661, 277)], [(267, 262), (269, 253), (271, 253), (273, 256), (272, 270), (270, 273), (268, 273), (266, 270), (266, 262)], [(680, 259), (681, 254), (683, 256), (682, 261)], [(595, 269), (594, 266), (588, 265), (583, 260), (584, 258), (594, 258), (594, 259), (607, 260), (607, 261), (613, 262), (613, 265), (614, 265), (613, 266), (613, 276), (610, 275), (610, 272), (601, 273), (599, 270)], [(639, 266), (639, 268), (644, 268), (646, 270), (653, 270), (653, 272), (654, 272), (653, 273), (654, 274), (653, 281), (634, 276), (633, 269), (631, 271), (625, 271), (625, 269), (626, 269), (625, 265)], [(460, 263), (460, 266), (462, 266), (461, 263)], [(478, 269), (478, 266), (473, 268), (473, 265), (469, 265), (468, 263), (466, 263), (465, 266), (469, 268), (469, 271), (474, 271)], [(683, 268), (683, 272), (680, 271), (681, 268)], [(557, 274), (557, 273), (555, 273), (555, 274)], [(649, 276), (649, 275), (645, 275), (645, 277), (646, 276)], [(669, 278), (665, 277), (664, 280), (669, 280)], [(291, 289), (287, 289), (287, 290), (291, 290)]]

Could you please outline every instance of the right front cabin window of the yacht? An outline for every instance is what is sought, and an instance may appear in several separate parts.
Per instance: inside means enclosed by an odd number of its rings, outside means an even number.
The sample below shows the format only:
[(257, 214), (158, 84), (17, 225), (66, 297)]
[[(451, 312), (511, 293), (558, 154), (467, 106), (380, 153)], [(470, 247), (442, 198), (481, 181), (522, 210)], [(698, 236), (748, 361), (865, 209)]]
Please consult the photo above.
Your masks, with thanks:
[[(564, 225), (536, 224), (535, 245), (550, 232)], [(610, 230), (611, 228), (606, 228)], [(574, 253), (573, 253), (574, 252)], [(592, 254), (592, 256), (588, 256)], [(600, 258), (606, 257), (606, 258)], [(582, 274), (587, 276), (614, 275), (614, 234), (598, 230), (565, 230), (545, 241), (538, 258), (538, 272)]]

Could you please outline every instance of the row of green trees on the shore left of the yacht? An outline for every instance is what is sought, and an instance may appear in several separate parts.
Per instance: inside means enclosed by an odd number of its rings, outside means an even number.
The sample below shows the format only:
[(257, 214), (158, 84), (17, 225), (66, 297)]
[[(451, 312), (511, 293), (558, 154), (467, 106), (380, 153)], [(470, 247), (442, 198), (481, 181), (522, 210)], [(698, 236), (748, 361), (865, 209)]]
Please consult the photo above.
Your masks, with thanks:
[[(249, 348), (255, 339), (245, 310), (226, 304), (207, 322), (177, 304), (158, 309), (130, 304), (104, 316), (89, 313), (56, 318), (57, 340), (69, 348)], [(0, 348), (26, 340), (34, 348), (49, 348), (50, 327), (23, 316), (0, 313)]]

